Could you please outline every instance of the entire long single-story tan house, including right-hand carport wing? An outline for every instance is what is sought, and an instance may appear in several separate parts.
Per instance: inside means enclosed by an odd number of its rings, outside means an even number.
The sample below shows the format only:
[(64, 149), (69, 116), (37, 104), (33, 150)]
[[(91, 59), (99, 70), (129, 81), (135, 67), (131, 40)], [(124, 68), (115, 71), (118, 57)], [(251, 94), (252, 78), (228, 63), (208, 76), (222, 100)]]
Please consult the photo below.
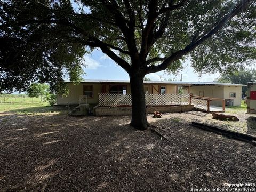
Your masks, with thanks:
[[(57, 95), (57, 105), (71, 105), (86, 103), (97, 105), (99, 93), (131, 93), (129, 81), (114, 80), (85, 80), (79, 85), (67, 82), (69, 94), (67, 97)], [(201, 97), (232, 99), (234, 105), (241, 104), (242, 86), (231, 83), (215, 82), (168, 82), (168, 81), (145, 81), (146, 94), (175, 94), (179, 87), (183, 87), (183, 93), (190, 93)], [(245, 85), (246, 86), (246, 85)], [(211, 101), (211, 105), (221, 105), (220, 101)]]

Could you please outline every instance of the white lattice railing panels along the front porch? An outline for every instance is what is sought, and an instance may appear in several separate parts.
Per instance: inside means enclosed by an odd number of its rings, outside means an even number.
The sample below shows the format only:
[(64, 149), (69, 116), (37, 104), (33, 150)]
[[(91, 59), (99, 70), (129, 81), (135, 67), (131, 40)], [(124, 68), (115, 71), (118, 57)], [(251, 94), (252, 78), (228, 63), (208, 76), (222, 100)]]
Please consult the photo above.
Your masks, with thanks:
[[(146, 106), (188, 105), (189, 94), (145, 94)], [(131, 94), (99, 94), (99, 106), (132, 105)]]

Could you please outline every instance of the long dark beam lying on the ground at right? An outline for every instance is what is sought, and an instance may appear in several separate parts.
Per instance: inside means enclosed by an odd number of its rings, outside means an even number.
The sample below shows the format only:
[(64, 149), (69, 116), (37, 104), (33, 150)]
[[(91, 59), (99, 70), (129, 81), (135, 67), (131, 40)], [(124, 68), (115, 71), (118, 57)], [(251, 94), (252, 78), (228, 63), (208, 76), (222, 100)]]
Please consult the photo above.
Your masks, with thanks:
[(199, 128), (199, 129), (203, 129), (206, 131), (211, 131), (214, 133), (225, 135), (226, 137), (229, 137), (229, 138), (234, 138), (234, 139), (237, 139), (240, 141), (249, 142), (256, 146), (256, 137), (254, 137), (252, 135), (238, 133), (235, 131), (223, 129), (221, 127), (207, 125), (207, 124), (203, 124), (203, 123), (197, 123), (197, 122), (192, 122), (191, 125)]

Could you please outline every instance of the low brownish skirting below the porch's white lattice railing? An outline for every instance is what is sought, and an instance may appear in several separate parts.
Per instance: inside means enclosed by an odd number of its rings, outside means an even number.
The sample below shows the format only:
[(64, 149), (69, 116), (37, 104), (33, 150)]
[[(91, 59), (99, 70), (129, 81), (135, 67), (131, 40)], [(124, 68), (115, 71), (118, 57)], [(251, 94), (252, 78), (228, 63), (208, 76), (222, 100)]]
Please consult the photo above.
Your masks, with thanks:
[[(178, 106), (146, 106), (146, 113), (153, 114), (154, 111), (160, 111), (161, 113), (182, 113), (184, 111), (193, 110), (193, 105), (178, 105)], [(96, 116), (106, 116), (106, 115), (131, 115), (131, 107), (94, 107), (94, 114)]]

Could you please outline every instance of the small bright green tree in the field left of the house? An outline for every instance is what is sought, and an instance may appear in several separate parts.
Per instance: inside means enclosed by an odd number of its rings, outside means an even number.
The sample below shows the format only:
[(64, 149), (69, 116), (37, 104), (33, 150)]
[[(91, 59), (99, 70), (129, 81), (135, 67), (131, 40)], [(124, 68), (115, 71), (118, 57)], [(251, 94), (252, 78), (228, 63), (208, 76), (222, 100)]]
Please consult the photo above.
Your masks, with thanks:
[(49, 85), (41, 84), (41, 83), (32, 83), (27, 90), (29, 97), (40, 97), (42, 101), (42, 97), (46, 97), (49, 94)]

